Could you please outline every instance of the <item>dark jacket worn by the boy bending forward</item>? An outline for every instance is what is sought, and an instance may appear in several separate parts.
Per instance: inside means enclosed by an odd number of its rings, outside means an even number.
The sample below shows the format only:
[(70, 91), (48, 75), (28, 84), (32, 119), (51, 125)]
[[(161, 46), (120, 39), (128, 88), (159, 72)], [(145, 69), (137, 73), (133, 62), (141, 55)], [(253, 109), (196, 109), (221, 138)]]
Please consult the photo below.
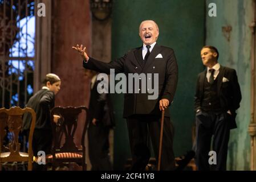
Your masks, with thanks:
[[(34, 109), (36, 113), (35, 129), (51, 129), (50, 110), (54, 107), (54, 92), (47, 89), (39, 90), (27, 102), (27, 107)], [(29, 130), (31, 125), (31, 114), (23, 116), (22, 130)]]

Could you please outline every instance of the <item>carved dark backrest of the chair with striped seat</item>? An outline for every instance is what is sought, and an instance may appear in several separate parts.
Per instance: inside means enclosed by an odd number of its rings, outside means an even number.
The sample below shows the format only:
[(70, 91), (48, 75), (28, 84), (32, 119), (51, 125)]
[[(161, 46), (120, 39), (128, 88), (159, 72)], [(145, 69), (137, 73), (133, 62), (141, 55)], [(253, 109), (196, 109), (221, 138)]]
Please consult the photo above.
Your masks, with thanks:
[[(82, 110), (86, 112), (86, 119), (85, 121), (82, 121), (83, 125), (80, 125), (80, 123), (78, 123), (78, 119)], [(54, 115), (60, 116), (58, 123), (53, 122)], [(82, 150), (85, 150), (84, 140), (88, 124), (87, 107), (54, 107), (54, 109), (51, 110), (51, 120), (54, 135), (52, 154), (55, 154), (55, 152), (81, 152)], [(81, 142), (79, 142), (80, 146), (76, 146), (74, 142), (78, 126), (83, 127), (82, 138), (80, 139)]]

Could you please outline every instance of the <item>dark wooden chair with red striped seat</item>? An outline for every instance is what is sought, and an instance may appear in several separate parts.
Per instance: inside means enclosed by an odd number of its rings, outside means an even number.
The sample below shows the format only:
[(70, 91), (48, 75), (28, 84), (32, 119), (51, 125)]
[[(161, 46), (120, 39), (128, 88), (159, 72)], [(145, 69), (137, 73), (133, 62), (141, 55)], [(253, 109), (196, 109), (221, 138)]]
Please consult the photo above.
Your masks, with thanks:
[[(79, 114), (82, 110), (86, 112), (85, 121), (78, 121)], [(58, 123), (53, 122), (54, 115), (59, 115)], [(51, 110), (52, 131), (53, 131), (53, 147), (52, 155), (47, 156), (47, 162), (52, 163), (52, 170), (57, 166), (63, 166), (63, 163), (80, 164), (86, 171), (86, 146), (84, 143), (87, 123), (88, 109), (85, 106), (80, 107), (54, 107)], [(82, 123), (80, 123), (82, 122)], [(83, 127), (82, 138), (76, 146), (74, 139), (75, 133), (79, 127)]]

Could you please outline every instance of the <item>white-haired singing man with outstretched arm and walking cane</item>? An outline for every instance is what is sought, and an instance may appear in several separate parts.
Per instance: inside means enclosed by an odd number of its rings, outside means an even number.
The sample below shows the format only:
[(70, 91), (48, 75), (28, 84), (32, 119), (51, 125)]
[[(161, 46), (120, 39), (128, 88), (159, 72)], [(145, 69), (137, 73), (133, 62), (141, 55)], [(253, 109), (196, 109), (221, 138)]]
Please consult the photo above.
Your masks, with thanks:
[[(139, 35), (143, 41), (143, 46), (132, 49), (123, 57), (110, 63), (103, 63), (88, 57), (85, 52), (86, 48), (83, 48), (82, 45), (72, 48), (82, 55), (83, 67), (87, 69), (101, 73), (109, 73), (109, 69), (115, 69), (115, 73), (124, 73), (127, 77), (129, 73), (158, 74), (159, 79), (154, 79), (154, 83), (158, 81), (158, 97), (156, 99), (149, 100), (150, 94), (141, 92), (143, 89), (148, 90), (148, 88), (140, 88), (139, 90), (133, 88), (132, 93), (124, 94), (123, 117), (127, 119), (133, 161), (132, 169), (144, 170), (150, 158), (147, 146), (148, 132), (151, 136), (156, 159), (158, 159), (161, 111), (168, 108), (173, 101), (177, 87), (178, 66), (173, 49), (156, 44), (159, 27), (153, 20), (141, 22)], [(151, 79), (151, 77), (147, 77), (147, 80), (150, 81)], [(142, 80), (141, 77), (140, 80)], [(174, 168), (173, 125), (169, 117), (169, 110), (166, 109), (160, 167), (162, 170)]]

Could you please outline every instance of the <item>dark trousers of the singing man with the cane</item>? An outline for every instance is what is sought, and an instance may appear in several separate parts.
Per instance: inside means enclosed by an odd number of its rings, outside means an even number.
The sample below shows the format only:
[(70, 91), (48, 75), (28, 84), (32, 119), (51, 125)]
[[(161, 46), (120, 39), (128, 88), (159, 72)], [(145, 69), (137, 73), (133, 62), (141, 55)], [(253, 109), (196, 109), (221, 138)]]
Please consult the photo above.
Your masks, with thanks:
[[(129, 142), (132, 152), (132, 170), (143, 171), (151, 156), (148, 148), (148, 131), (151, 137), (153, 150), (158, 163), (160, 141), (160, 117), (148, 115), (127, 118)], [(173, 170), (175, 166), (173, 153), (173, 125), (169, 117), (164, 118), (162, 138), (161, 170)]]

